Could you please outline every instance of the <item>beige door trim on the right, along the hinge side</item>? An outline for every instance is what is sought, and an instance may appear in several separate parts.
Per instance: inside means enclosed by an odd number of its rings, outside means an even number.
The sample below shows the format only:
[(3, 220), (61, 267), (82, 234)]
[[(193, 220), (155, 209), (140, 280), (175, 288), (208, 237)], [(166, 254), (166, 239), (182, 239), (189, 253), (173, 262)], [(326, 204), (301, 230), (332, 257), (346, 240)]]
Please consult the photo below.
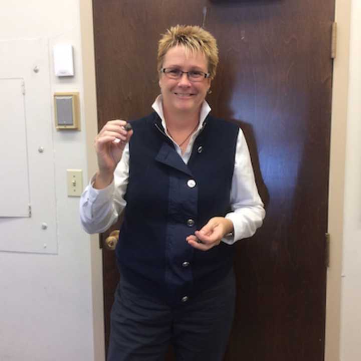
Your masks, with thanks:
[(335, 1), (337, 55), (333, 62), (331, 142), (328, 190), (330, 266), (326, 284), (325, 360), (340, 359), (340, 300), (343, 246), (344, 174), (348, 103), (351, 0)]

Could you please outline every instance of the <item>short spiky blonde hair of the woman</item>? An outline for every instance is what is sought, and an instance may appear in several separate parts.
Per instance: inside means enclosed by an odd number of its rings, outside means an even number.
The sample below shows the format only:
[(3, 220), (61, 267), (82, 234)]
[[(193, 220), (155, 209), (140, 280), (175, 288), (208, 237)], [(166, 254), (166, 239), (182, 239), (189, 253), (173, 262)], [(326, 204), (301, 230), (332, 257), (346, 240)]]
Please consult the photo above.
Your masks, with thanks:
[(218, 65), (218, 47), (215, 37), (199, 26), (177, 25), (171, 27), (162, 35), (158, 42), (157, 68), (162, 68), (166, 52), (177, 45), (182, 45), (191, 51), (201, 51), (208, 60), (210, 78), (216, 76)]

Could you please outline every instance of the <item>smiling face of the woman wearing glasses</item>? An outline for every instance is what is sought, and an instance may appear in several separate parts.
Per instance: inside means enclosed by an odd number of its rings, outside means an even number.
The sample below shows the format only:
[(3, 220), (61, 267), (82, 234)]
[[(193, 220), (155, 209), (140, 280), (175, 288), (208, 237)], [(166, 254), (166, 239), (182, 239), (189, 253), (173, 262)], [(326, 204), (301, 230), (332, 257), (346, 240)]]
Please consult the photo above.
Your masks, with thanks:
[[(198, 51), (187, 50), (184, 46), (170, 48), (164, 56), (163, 68), (175, 68), (185, 72), (198, 70), (208, 73), (208, 60)], [(163, 98), (164, 112), (197, 113), (211, 86), (209, 78), (191, 82), (187, 74), (180, 79), (169, 79), (161, 73), (159, 86)]]

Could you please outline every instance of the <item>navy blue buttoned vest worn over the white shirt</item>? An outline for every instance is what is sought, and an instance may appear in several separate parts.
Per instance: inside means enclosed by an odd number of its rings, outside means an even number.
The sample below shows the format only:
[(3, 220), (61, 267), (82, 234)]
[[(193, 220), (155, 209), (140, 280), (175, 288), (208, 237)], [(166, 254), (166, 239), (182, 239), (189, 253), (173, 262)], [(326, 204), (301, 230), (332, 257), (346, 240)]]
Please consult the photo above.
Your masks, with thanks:
[(221, 242), (204, 252), (186, 237), (230, 211), (238, 127), (209, 115), (185, 164), (156, 113), (131, 124), (118, 265), (129, 282), (176, 304), (220, 281), (232, 267), (233, 246)]

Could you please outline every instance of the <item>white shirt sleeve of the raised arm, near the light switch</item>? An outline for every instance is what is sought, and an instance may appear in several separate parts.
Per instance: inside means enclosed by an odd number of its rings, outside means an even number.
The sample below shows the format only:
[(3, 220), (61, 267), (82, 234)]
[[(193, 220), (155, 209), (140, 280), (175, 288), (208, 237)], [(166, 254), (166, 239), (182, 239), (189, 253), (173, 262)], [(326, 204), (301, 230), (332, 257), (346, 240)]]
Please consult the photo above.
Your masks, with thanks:
[(113, 182), (106, 188), (93, 188), (94, 177), (80, 198), (80, 219), (88, 233), (106, 231), (117, 220), (126, 206), (124, 195), (129, 179), (129, 145), (123, 150), (120, 162), (114, 171)]

